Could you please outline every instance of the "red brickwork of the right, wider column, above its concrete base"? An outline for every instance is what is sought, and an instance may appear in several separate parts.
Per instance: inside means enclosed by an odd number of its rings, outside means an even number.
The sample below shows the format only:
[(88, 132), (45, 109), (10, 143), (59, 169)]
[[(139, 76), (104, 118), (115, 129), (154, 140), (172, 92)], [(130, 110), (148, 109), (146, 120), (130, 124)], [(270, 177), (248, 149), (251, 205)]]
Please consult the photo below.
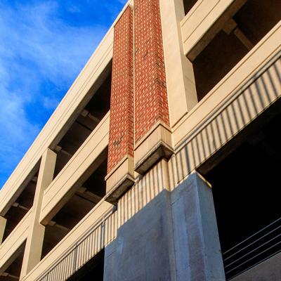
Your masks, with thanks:
[(135, 0), (135, 141), (157, 121), (169, 125), (159, 0)]

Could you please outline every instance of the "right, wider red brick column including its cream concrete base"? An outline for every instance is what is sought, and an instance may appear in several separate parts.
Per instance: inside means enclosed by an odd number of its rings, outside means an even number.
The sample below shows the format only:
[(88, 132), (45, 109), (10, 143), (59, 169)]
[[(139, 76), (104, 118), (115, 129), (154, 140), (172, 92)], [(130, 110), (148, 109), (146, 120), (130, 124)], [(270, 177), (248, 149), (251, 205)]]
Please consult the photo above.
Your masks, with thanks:
[(171, 131), (159, 0), (135, 0), (135, 169), (169, 158)]

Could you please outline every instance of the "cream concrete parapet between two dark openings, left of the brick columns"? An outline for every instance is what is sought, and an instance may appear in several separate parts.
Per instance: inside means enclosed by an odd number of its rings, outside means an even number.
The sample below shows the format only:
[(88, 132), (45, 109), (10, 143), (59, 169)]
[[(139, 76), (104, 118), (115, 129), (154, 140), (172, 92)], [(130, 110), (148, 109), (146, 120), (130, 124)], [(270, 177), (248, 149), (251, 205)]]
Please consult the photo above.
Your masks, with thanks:
[[(100, 165), (105, 156), (110, 128), (110, 112), (100, 121), (90, 136), (44, 191), (40, 223), (46, 225), (69, 200), (87, 176)], [(105, 157), (103, 158), (105, 159)]]

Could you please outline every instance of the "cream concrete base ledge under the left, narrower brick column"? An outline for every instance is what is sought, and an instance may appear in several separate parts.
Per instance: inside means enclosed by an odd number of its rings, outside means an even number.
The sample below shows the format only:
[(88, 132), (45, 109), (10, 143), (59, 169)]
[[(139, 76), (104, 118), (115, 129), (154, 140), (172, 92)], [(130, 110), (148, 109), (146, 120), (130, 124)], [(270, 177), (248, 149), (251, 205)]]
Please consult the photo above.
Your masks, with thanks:
[(133, 157), (127, 155), (105, 177), (106, 195), (105, 200), (117, 204), (118, 199), (135, 182), (133, 171)]

